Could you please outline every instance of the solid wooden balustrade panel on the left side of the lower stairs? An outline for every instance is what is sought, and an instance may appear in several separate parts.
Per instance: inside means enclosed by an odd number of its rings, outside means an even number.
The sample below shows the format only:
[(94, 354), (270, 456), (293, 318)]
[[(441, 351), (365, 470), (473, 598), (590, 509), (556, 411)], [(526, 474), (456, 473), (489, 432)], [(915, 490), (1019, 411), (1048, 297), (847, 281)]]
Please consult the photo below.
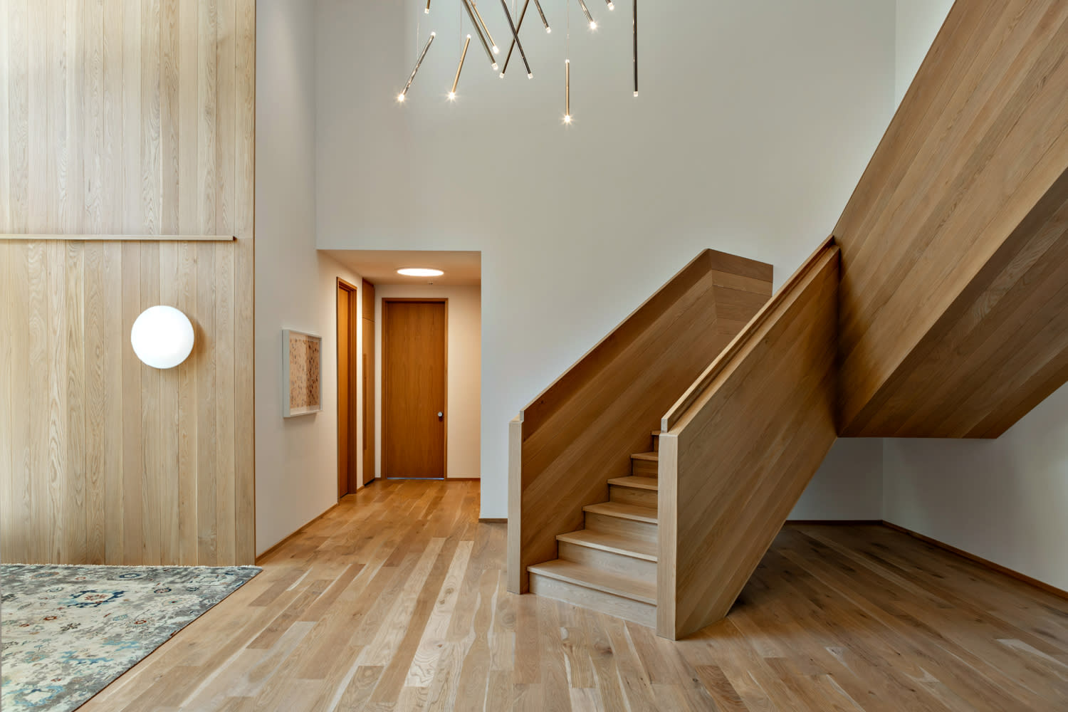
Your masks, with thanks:
[(523, 409), (509, 590), (525, 591), (527, 567), (555, 558), (556, 535), (581, 528), (582, 507), (630, 474), (650, 424), (767, 301), (771, 280), (770, 265), (706, 250)]

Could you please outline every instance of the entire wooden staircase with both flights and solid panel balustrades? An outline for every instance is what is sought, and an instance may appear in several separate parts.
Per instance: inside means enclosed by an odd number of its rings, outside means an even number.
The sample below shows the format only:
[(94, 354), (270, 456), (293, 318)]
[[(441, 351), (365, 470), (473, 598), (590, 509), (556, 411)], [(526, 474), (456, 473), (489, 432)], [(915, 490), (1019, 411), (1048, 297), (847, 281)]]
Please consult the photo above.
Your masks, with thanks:
[(706, 251), (513, 420), (509, 590), (723, 618), (836, 438), (996, 438), (1068, 381), (1066, 285), (1068, 2), (957, 2), (774, 295)]

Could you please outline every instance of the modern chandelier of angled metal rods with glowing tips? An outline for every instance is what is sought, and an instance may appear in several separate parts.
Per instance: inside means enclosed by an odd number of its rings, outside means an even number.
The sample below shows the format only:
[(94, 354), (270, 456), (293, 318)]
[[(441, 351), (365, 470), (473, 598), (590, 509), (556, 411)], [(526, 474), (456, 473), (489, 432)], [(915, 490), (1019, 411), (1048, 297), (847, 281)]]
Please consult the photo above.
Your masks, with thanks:
[[(430, 1), (426, 0), (426, 7), (423, 10), (424, 15), (430, 14)], [(503, 79), (505, 73), (508, 70), (508, 64), (512, 62), (512, 53), (515, 49), (519, 49), (519, 57), (522, 59), (523, 67), (527, 69), (527, 78), (533, 79), (534, 73), (531, 70), (530, 62), (527, 60), (527, 52), (523, 51), (523, 45), (519, 41), (519, 32), (522, 30), (523, 20), (527, 18), (527, 10), (531, 4), (531, 0), (523, 1), (522, 11), (519, 13), (519, 21), (513, 21), (513, 14), (515, 13), (515, 0), (513, 0), (513, 7), (509, 11), (507, 0), (500, 0), (501, 10), (504, 11), (504, 18), (508, 23), (508, 31), (512, 34), (512, 45), (508, 47), (508, 52), (504, 57), (504, 68), (501, 68), (498, 62), (498, 57), (501, 53), (501, 48), (493, 41), (493, 35), (489, 31), (489, 27), (486, 25), (486, 20), (483, 18), (482, 13), (478, 12), (478, 5), (476, 0), (457, 0), (460, 5), (462, 5), (464, 12), (467, 14), (468, 19), (473, 28), (473, 33), (478, 37), (478, 43), (486, 52), (486, 58), (489, 60), (489, 64), (493, 72), (500, 70), (500, 76)], [(541, 18), (541, 25), (545, 27), (547, 33), (552, 32), (552, 28), (549, 26), (549, 20), (546, 18), (545, 11), (541, 7), (540, 0), (533, 0), (534, 7), (537, 10), (538, 16)], [(586, 22), (591, 30), (597, 29), (597, 21), (594, 19), (593, 14), (586, 6), (585, 0), (578, 0), (579, 7), (582, 10), (582, 14), (586, 18)], [(612, 0), (604, 0), (610, 11), (615, 10), (615, 3)], [(633, 52), (633, 65), (634, 65), (634, 96), (638, 96), (638, 0), (632, 0), (633, 3), (633, 16), (631, 28), (634, 36), (634, 52)], [(440, 0), (439, 0), (440, 4)], [(567, 0), (567, 38), (565, 43), (565, 58), (564, 58), (564, 123), (571, 123), (571, 0)], [(464, 18), (460, 17), (460, 34), (464, 33)], [(419, 29), (417, 23), (417, 37), (419, 36)], [(415, 81), (415, 76), (419, 74), (419, 68), (423, 65), (423, 60), (426, 59), (426, 53), (430, 49), (430, 45), (434, 44), (434, 39), (437, 36), (437, 32), (430, 32), (430, 36), (427, 38), (426, 44), (423, 46), (423, 50), (419, 53), (419, 58), (415, 60), (415, 66), (412, 67), (411, 75), (408, 77), (408, 83), (405, 84), (404, 91), (397, 94), (397, 101), (404, 102), (408, 97), (408, 90), (411, 89), (411, 84)], [(467, 35), (464, 42), (464, 49), (460, 51), (460, 62), (456, 67), (456, 76), (453, 79), (452, 89), (447, 93), (447, 98), (450, 101), (456, 100), (456, 89), (459, 86), (460, 73), (464, 70), (464, 61), (467, 59), (468, 47), (471, 45), (471, 36)], [(417, 39), (417, 46), (419, 41)]]

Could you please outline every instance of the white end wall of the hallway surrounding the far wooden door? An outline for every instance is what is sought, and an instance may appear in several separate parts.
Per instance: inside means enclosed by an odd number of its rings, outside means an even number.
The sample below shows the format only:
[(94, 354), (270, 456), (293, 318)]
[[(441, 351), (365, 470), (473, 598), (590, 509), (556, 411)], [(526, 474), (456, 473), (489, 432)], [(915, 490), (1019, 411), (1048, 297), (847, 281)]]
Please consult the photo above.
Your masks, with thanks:
[[(449, 300), (449, 477), (482, 473), (482, 289), (477, 286), (383, 284), (375, 287), (375, 422), (382, 422), (382, 299), (424, 297)], [(375, 476), (381, 475), (382, 430), (375, 428)]]

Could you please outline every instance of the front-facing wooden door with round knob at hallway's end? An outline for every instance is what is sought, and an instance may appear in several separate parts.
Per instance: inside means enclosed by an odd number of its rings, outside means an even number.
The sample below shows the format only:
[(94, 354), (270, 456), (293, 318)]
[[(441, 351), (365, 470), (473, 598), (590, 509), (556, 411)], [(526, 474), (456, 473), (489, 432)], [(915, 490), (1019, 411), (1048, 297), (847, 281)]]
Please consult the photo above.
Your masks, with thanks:
[(382, 300), (382, 474), (445, 476), (443, 300)]

